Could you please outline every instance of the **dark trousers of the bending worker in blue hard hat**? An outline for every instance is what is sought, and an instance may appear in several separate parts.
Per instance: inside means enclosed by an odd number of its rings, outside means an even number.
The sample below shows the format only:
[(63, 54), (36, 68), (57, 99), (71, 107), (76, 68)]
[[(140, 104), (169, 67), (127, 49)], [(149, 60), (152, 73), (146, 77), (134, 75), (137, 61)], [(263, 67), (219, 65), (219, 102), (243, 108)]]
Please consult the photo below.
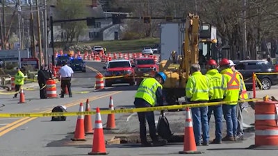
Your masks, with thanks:
[[(136, 98), (134, 101), (135, 107), (152, 107), (147, 101), (142, 98)], [(138, 112), (138, 119), (140, 124), (140, 139), (142, 143), (147, 142), (146, 119), (149, 125), (149, 136), (152, 141), (157, 141), (156, 123), (154, 121), (154, 112)]]

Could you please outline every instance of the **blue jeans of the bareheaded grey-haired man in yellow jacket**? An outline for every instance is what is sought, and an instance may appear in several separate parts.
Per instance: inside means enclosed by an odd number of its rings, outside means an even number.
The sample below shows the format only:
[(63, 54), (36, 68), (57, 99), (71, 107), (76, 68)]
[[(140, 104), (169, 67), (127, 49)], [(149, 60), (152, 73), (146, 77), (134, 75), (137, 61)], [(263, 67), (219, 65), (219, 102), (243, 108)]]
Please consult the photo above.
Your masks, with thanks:
[(203, 131), (203, 142), (208, 143), (208, 107), (193, 107), (191, 112), (196, 144), (201, 144), (201, 131)]

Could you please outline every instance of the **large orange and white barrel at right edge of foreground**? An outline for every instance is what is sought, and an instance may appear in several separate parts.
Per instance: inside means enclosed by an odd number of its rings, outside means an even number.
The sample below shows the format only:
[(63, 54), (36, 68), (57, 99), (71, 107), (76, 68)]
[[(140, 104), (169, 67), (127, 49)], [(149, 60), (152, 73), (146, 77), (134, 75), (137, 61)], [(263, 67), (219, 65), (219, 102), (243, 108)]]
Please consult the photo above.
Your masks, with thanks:
[(278, 102), (259, 101), (255, 105), (255, 146), (278, 146)]

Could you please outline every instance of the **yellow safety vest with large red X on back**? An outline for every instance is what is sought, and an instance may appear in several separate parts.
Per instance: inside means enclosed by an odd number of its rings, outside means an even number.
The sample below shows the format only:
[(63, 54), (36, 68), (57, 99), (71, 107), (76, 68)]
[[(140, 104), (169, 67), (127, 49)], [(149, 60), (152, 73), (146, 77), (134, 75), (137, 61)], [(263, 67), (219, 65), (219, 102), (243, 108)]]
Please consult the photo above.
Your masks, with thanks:
[[(230, 68), (221, 71), (224, 75), (225, 83), (227, 83), (227, 89), (224, 91), (224, 101), (238, 101), (238, 95), (240, 93), (240, 78), (236, 72), (231, 71)], [(225, 105), (236, 105), (235, 103), (227, 103)]]

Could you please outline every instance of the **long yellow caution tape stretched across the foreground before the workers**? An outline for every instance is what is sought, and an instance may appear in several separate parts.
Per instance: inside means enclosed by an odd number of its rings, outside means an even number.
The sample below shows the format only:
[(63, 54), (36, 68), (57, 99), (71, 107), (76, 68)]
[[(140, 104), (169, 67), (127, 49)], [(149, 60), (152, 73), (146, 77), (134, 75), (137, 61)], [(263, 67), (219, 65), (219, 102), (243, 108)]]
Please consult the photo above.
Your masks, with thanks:
[[(213, 102), (213, 103), (195, 103), (195, 104), (186, 104), (186, 105), (167, 105), (167, 106), (158, 106), (158, 107), (140, 107), (140, 108), (131, 108), (123, 110), (101, 110), (100, 114), (122, 114), (122, 113), (133, 113), (133, 112), (150, 112), (158, 110), (177, 110), (184, 109), (186, 107), (205, 107), (212, 105), (222, 105), (227, 103), (244, 103), (250, 101), (259, 101), (261, 98), (252, 98), (241, 101), (232, 101), (232, 102)], [(0, 113), (0, 117), (49, 117), (49, 116), (80, 116), (80, 115), (92, 115), (96, 114), (95, 111), (90, 112), (51, 112), (51, 113)]]

